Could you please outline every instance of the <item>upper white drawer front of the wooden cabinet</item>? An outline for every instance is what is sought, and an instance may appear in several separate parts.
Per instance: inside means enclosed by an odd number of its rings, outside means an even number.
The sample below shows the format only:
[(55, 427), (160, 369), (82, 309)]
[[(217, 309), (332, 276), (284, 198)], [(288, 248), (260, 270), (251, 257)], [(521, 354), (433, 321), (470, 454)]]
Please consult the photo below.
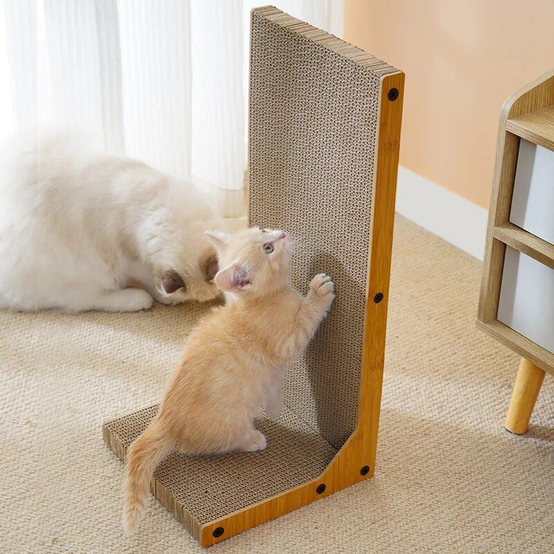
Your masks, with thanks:
[(510, 222), (554, 244), (554, 152), (521, 139)]

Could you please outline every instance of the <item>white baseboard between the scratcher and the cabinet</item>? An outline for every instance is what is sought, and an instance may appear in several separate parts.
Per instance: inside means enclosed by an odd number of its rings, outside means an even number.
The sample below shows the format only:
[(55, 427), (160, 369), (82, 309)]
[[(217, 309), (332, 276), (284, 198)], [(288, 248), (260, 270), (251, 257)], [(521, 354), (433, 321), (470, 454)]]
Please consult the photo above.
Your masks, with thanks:
[(396, 211), (455, 247), (483, 260), (488, 211), (402, 166)]

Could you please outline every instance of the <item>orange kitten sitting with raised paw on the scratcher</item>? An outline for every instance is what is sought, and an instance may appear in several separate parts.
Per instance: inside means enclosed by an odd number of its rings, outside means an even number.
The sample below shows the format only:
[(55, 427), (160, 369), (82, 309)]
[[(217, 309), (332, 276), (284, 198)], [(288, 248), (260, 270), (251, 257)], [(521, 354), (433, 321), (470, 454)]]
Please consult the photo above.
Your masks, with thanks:
[(312, 279), (306, 297), (289, 285), (283, 231), (206, 234), (223, 268), (215, 283), (226, 302), (188, 337), (156, 418), (129, 448), (127, 533), (139, 523), (154, 470), (175, 445), (187, 454), (265, 448), (265, 436), (253, 426), (258, 406), (280, 416), (283, 369), (303, 351), (334, 298), (324, 274)]

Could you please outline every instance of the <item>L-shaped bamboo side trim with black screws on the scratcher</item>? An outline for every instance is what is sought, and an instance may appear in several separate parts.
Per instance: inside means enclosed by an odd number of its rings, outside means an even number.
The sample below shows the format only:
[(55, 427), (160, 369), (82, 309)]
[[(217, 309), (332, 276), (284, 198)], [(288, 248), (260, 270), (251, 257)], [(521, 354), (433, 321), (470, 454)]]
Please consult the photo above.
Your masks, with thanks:
[[(388, 98), (391, 89), (397, 89), (394, 100)], [(394, 96), (392, 93), (391, 98)], [(316, 479), (202, 526), (202, 546), (221, 542), (373, 476), (384, 367), (403, 98), (404, 73), (399, 71), (381, 78), (377, 170), (373, 193), (373, 233), (356, 429), (325, 471)], [(377, 302), (375, 295), (378, 293), (383, 296)], [(323, 484), (325, 488), (321, 490), (319, 486)], [(217, 528), (222, 528), (223, 532), (214, 536)]]

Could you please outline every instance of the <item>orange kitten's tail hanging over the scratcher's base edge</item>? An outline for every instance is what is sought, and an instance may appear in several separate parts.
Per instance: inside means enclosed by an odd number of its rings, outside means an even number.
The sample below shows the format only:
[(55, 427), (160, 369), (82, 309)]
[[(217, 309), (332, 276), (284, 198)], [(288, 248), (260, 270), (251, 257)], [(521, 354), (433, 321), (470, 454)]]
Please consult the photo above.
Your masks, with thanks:
[(154, 420), (129, 447), (123, 507), (125, 534), (131, 535), (139, 525), (154, 470), (167, 456), (173, 443), (161, 429), (158, 420)]

